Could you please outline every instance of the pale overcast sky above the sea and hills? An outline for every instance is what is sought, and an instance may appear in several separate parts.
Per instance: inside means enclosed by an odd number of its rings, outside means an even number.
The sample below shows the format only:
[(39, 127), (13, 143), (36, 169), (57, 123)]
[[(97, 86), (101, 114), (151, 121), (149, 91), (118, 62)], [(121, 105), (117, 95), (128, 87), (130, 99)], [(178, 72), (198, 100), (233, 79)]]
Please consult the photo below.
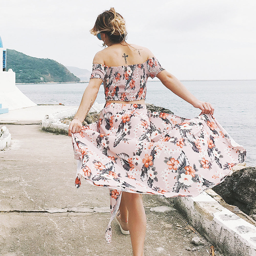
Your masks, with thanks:
[(91, 70), (102, 47), (89, 30), (110, 7), (179, 79), (256, 79), (255, 0), (0, 0), (3, 45)]

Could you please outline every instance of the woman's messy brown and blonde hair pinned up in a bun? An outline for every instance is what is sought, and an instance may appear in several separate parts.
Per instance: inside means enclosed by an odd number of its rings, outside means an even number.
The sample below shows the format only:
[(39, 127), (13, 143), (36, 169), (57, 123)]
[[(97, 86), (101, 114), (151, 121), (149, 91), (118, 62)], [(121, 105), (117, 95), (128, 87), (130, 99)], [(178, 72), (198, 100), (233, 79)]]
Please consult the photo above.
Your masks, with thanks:
[(113, 42), (121, 42), (127, 35), (125, 20), (122, 15), (115, 12), (113, 7), (97, 17), (94, 27), (90, 32), (93, 35), (103, 32), (107, 34)]

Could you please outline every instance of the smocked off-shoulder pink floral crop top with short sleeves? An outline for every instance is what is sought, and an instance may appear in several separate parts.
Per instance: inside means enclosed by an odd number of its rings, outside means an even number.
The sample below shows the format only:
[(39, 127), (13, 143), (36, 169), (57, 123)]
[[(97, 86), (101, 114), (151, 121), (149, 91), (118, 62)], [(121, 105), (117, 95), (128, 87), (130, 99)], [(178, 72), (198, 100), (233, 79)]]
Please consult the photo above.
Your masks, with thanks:
[(146, 98), (147, 78), (164, 70), (154, 57), (141, 64), (108, 67), (93, 64), (91, 78), (103, 80), (105, 100), (135, 101)]

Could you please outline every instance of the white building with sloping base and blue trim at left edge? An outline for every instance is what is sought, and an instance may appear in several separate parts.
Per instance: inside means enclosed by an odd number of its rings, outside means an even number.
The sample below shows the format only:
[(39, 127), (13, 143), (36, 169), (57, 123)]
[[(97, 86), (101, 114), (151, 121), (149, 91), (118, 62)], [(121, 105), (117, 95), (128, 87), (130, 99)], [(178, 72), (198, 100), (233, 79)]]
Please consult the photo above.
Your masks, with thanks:
[(2, 56), (3, 66), (0, 66), (0, 114), (7, 113), (8, 110), (36, 106), (36, 103), (31, 101), (16, 87), (15, 72), (13, 72), (12, 69), (9, 69), (7, 72), (6, 60), (8, 56), (6, 49), (3, 48), (3, 42), (0, 36), (0, 60), (2, 59)]

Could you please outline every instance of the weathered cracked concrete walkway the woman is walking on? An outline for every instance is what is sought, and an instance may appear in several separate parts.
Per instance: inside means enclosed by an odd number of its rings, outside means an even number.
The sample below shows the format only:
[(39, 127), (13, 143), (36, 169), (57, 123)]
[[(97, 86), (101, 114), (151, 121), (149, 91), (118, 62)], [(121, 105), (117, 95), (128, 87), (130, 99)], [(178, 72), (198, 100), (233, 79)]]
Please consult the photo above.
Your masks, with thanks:
[[(43, 132), (41, 125), (6, 126), (12, 144), (0, 151), (0, 255), (132, 255), (130, 236), (115, 221), (112, 243), (105, 241), (108, 189), (86, 180), (74, 187), (71, 138)], [(204, 245), (191, 243), (197, 234), (187, 232), (192, 227), (168, 200), (154, 195), (143, 200), (145, 256), (209, 255), (211, 244), (204, 238)], [(152, 211), (157, 206), (169, 208)], [(215, 255), (223, 256), (218, 250)]]

